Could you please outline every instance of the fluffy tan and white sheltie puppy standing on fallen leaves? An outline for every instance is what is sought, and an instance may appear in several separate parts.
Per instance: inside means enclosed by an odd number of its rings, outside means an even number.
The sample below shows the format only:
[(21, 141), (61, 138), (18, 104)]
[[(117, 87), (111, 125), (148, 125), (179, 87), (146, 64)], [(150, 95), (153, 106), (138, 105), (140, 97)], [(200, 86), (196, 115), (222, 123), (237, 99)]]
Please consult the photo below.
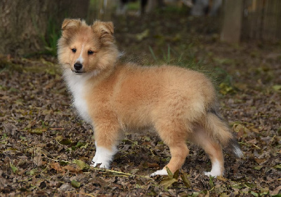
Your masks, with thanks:
[(218, 113), (211, 81), (190, 69), (169, 65), (141, 67), (122, 63), (115, 45), (112, 22), (65, 19), (58, 41), (58, 61), (73, 95), (74, 106), (94, 129), (96, 155), (92, 164), (110, 168), (124, 128), (155, 128), (169, 147), (171, 160), (152, 173), (167, 175), (185, 162), (186, 141), (209, 155), (211, 172), (223, 175), (223, 151), (242, 156), (228, 124)]

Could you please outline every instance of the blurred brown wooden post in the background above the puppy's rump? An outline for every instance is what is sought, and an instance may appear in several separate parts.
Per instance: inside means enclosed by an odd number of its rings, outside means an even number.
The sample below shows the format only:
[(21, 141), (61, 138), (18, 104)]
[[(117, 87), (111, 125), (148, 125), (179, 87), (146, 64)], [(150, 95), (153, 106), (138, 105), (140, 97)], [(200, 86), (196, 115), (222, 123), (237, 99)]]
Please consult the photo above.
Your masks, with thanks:
[(226, 0), (223, 11), (221, 41), (237, 43), (241, 36), (243, 0)]

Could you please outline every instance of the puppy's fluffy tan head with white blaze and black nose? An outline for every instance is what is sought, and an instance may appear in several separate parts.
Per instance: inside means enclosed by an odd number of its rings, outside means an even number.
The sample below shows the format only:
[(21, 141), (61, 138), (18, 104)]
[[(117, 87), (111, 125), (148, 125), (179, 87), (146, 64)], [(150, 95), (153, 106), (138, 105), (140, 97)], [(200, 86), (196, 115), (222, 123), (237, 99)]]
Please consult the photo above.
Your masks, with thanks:
[(58, 61), (74, 74), (99, 73), (114, 67), (118, 56), (112, 22), (65, 19), (58, 40)]

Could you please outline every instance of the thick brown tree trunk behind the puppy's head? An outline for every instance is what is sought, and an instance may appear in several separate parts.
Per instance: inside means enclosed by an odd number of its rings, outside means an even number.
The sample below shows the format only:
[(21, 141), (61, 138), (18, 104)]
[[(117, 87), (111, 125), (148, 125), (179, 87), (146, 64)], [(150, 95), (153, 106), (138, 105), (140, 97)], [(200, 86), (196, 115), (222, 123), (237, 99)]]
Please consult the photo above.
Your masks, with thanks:
[[(86, 18), (89, 0), (1, 0), (0, 53), (29, 55), (60, 34), (65, 16)], [(57, 34), (57, 35), (50, 35)]]

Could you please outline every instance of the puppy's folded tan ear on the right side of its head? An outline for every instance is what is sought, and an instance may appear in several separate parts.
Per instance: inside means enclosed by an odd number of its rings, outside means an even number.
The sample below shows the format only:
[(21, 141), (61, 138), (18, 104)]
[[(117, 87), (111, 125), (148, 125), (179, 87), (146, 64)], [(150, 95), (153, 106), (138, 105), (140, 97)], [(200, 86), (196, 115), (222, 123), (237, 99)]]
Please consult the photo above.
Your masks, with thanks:
[(114, 27), (112, 22), (101, 22), (96, 21), (91, 26), (93, 33), (97, 34), (103, 44), (108, 42), (112, 43), (114, 41)]

